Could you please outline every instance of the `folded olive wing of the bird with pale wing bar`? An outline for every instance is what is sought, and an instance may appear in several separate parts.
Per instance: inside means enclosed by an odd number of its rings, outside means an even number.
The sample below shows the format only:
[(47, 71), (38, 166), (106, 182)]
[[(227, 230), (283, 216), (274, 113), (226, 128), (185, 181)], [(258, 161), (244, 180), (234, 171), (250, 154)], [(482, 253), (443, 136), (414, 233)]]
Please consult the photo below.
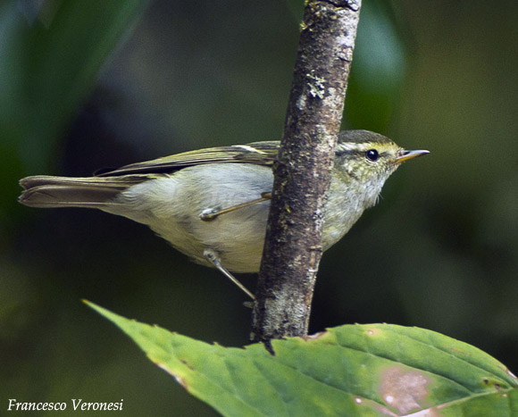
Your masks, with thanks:
[(117, 170), (97, 173), (97, 177), (173, 172), (206, 163), (254, 163), (270, 166), (279, 151), (279, 141), (254, 142), (248, 145), (219, 146), (174, 154), (145, 163), (132, 163)]

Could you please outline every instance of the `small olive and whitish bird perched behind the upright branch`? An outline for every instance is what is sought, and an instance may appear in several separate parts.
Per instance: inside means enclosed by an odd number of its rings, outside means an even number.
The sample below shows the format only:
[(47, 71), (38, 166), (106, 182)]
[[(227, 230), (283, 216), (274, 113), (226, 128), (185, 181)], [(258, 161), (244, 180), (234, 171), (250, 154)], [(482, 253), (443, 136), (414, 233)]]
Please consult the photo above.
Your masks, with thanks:
[[(217, 268), (248, 296), (232, 272), (258, 272), (279, 141), (210, 147), (132, 163), (92, 177), (20, 180), (21, 204), (83, 207), (153, 229), (194, 262)], [(427, 150), (407, 151), (369, 130), (338, 133), (325, 206), (322, 249), (340, 240), (376, 204), (397, 168)]]

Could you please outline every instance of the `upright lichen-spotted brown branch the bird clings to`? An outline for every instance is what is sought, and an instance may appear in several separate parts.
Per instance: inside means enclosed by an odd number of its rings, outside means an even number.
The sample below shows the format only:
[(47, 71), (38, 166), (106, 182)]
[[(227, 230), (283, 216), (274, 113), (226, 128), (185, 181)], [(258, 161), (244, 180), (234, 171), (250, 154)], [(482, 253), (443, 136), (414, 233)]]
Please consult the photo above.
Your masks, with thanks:
[(309, 0), (254, 307), (255, 340), (307, 334), (361, 0)]

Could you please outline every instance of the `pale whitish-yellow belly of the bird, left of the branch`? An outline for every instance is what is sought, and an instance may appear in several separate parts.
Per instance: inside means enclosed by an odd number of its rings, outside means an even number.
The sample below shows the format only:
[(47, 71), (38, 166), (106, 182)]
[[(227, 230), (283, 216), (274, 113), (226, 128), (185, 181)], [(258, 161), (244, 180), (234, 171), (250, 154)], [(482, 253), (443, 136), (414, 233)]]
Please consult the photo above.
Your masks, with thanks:
[(205, 249), (211, 249), (228, 270), (257, 272), (270, 202), (221, 213), (210, 221), (200, 215), (249, 203), (271, 189), (269, 168), (238, 164), (193, 167), (129, 189), (121, 197), (122, 215), (147, 224), (196, 263), (213, 266), (204, 256)]

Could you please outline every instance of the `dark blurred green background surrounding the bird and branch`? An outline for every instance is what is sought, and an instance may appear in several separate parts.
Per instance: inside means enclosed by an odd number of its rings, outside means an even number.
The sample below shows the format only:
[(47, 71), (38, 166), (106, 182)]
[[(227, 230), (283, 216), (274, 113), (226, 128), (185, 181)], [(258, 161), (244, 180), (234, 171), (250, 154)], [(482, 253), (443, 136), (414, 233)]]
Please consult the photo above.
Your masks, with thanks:
[[(17, 181), (280, 138), (301, 3), (0, 3), (0, 414), (123, 398), (124, 416), (214, 415), (80, 299), (243, 346), (238, 288), (137, 223), (23, 207)], [(312, 332), (420, 326), (518, 371), (516, 21), (511, 0), (363, 0), (344, 127), (432, 154), (324, 254)]]

